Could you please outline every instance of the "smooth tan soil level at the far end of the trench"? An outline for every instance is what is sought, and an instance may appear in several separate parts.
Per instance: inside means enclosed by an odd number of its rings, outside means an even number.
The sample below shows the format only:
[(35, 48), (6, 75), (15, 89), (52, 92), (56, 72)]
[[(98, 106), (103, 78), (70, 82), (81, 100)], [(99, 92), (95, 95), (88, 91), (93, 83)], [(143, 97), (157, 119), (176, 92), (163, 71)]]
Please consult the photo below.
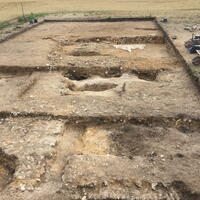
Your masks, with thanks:
[[(130, 28), (131, 27), (131, 28)], [(138, 30), (139, 28), (139, 30)], [(140, 30), (141, 28), (141, 30)], [(79, 39), (115, 40), (121, 38), (144, 36), (159, 36), (160, 33), (152, 22), (115, 22), (115, 23), (50, 23), (34, 28), (0, 47), (0, 64), (3, 66), (46, 66), (49, 64), (48, 55), (56, 53), (62, 45), (70, 45)], [(97, 38), (98, 39), (98, 38)], [(115, 41), (113, 41), (116, 43)], [(12, 48), (15, 46), (16, 48)], [(67, 48), (66, 47), (66, 48)], [(9, 59), (8, 59), (9, 57)], [(64, 63), (65, 64), (65, 63)], [(66, 64), (65, 64), (66, 65)]]

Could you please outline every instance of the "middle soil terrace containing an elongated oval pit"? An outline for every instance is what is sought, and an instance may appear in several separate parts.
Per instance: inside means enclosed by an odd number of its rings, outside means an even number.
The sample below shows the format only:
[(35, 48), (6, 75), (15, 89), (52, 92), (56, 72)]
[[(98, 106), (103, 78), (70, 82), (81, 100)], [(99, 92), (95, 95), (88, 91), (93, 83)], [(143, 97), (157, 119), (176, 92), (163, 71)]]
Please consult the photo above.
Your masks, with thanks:
[[(61, 73), (37, 72), (31, 76), (2, 78), (1, 82), (2, 112), (86, 118), (178, 115), (198, 118), (200, 112), (197, 109), (198, 95), (181, 68), (161, 72), (154, 81), (140, 79), (134, 74), (123, 74), (121, 78), (92, 77), (73, 81), (64, 78)], [(109, 88), (113, 84), (115, 87)]]

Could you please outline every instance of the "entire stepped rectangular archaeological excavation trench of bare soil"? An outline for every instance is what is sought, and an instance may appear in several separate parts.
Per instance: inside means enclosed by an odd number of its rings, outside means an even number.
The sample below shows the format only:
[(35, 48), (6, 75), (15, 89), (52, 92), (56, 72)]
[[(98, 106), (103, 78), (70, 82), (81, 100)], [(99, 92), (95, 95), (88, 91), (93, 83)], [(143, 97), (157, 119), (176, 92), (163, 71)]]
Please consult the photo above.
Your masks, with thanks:
[(5, 200), (199, 200), (199, 92), (154, 21), (48, 21), (0, 44)]

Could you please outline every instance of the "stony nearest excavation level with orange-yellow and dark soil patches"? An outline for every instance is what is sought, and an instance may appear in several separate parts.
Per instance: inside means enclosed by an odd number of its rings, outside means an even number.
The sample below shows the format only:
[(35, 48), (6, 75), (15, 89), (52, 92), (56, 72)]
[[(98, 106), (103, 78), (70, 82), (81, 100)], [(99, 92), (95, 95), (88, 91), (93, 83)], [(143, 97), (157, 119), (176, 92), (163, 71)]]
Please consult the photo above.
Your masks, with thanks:
[(184, 121), (183, 129), (37, 118), (1, 123), (1, 148), (19, 163), (4, 199), (199, 197), (197, 124)]

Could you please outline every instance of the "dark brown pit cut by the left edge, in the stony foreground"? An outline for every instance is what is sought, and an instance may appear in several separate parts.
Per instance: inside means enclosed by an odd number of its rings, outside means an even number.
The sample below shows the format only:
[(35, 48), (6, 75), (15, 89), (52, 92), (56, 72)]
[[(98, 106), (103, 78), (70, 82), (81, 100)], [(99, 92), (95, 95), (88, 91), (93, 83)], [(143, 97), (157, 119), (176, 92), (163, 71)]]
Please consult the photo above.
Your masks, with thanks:
[(17, 158), (0, 149), (0, 191), (12, 182)]

